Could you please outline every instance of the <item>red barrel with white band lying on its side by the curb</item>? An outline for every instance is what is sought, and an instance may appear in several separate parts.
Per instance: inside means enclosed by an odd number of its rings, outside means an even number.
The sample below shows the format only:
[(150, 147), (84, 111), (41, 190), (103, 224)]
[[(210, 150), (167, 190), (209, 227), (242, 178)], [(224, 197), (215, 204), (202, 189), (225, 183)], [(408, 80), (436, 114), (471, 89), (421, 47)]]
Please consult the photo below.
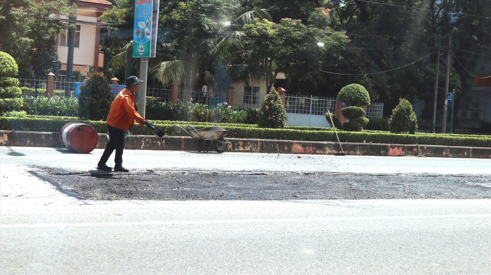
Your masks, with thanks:
[(69, 122), (60, 130), (60, 142), (66, 148), (86, 154), (94, 150), (99, 141), (97, 131), (90, 125)]

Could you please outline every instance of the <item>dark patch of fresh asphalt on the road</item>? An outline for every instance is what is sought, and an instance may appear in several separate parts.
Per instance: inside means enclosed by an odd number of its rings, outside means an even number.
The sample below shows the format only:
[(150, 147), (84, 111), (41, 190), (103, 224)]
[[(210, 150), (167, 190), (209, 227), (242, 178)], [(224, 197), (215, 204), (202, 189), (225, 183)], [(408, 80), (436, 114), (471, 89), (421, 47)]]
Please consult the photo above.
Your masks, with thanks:
[(33, 175), (90, 200), (489, 199), (491, 175), (147, 171)]

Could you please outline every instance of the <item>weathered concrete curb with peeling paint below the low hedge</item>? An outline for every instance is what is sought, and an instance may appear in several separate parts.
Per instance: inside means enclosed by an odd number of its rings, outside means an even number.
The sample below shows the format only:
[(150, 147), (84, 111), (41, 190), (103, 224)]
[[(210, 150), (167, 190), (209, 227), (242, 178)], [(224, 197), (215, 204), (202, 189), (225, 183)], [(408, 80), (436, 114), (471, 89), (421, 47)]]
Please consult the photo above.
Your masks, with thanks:
[[(335, 142), (238, 139), (228, 138), (229, 152), (335, 154), (340, 152)], [(99, 134), (97, 149), (106, 147), (106, 134)], [(341, 143), (348, 155), (417, 156), (417, 145)], [(62, 147), (59, 132), (31, 132), (0, 130), (0, 146)], [(420, 154), (426, 157), (491, 158), (491, 148), (419, 145)], [(191, 137), (131, 135), (125, 140), (127, 150), (182, 150), (197, 151), (196, 140)], [(210, 151), (215, 151), (212, 147)]]

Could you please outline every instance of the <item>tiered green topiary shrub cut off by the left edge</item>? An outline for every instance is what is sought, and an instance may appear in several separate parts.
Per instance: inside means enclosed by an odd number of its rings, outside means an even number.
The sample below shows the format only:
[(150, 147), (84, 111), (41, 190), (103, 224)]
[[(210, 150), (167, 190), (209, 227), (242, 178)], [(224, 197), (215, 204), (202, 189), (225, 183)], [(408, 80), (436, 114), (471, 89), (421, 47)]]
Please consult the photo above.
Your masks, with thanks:
[(24, 105), (19, 80), (14, 78), (18, 73), (17, 63), (10, 54), (0, 51), (0, 113), (19, 111)]

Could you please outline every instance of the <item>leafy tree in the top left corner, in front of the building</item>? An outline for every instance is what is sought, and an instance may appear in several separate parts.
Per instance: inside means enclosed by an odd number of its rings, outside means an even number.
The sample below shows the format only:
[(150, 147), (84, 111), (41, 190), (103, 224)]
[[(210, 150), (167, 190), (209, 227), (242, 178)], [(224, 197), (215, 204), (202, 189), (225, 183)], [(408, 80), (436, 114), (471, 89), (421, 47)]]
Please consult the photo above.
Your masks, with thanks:
[(40, 77), (60, 69), (54, 45), (66, 25), (55, 18), (73, 8), (65, 0), (0, 1), (0, 50), (17, 60), (19, 75)]

